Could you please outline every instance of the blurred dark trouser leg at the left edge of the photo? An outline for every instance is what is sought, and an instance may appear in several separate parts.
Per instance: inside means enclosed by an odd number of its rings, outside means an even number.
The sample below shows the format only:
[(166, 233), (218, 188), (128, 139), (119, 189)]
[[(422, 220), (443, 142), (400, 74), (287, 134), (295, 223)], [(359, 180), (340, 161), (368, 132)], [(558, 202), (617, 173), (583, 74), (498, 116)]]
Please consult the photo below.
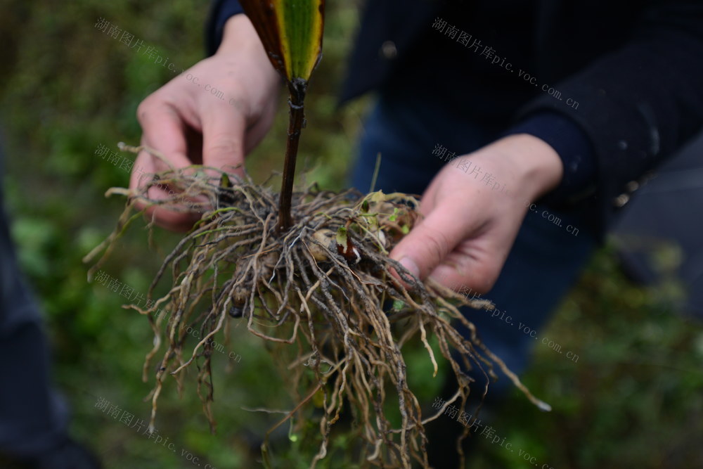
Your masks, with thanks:
[(68, 409), (51, 389), (49, 347), (15, 258), (3, 178), (0, 144), (0, 453), (22, 457), (62, 444)]

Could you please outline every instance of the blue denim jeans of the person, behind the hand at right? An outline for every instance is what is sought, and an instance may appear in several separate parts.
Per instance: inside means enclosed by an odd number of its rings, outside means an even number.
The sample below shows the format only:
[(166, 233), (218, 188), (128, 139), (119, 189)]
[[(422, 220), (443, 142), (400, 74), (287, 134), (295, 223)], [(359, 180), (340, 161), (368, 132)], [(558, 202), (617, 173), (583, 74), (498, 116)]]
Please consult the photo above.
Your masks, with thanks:
[[(494, 141), (501, 130), (453, 115), (430, 99), (382, 94), (366, 120), (352, 186), (368, 191), (380, 153), (375, 190), (422, 194), (446, 164), (432, 155), (436, 145), (463, 155)], [(487, 347), (518, 374), (527, 366), (532, 347), (548, 346), (540, 343), (541, 330), (597, 244), (583, 214), (541, 205), (533, 208), (527, 212), (496, 285), (482, 296), (494, 302), (500, 314), (494, 312), (491, 317), (490, 311), (467, 307), (462, 311), (475, 323)], [(567, 227), (573, 228), (567, 231)], [(564, 352), (555, 352), (554, 359), (567, 359)], [(483, 380), (482, 376), (475, 378)], [(501, 378), (491, 385), (488, 397), (500, 397), (510, 386), (507, 378)]]

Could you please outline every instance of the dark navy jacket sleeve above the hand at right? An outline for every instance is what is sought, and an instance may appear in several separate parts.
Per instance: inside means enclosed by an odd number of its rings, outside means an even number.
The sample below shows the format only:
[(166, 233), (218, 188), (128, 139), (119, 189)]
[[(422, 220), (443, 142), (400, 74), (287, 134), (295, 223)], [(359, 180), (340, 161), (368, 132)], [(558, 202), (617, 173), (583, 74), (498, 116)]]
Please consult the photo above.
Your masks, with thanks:
[[(602, 230), (636, 190), (637, 180), (703, 127), (702, 2), (651, 7), (631, 41), (557, 88), (570, 99), (542, 94), (520, 111), (516, 129), (562, 145), (557, 153), (565, 162), (565, 181), (557, 191), (569, 179), (579, 181), (580, 189), (586, 187), (583, 174), (593, 152), (590, 200), (598, 205)], [(590, 148), (576, 137), (565, 142), (555, 124), (559, 118), (569, 127), (566, 132), (578, 126)], [(586, 169), (580, 175), (570, 171), (579, 167), (574, 158), (579, 162), (583, 155), (586, 165), (581, 167)]]

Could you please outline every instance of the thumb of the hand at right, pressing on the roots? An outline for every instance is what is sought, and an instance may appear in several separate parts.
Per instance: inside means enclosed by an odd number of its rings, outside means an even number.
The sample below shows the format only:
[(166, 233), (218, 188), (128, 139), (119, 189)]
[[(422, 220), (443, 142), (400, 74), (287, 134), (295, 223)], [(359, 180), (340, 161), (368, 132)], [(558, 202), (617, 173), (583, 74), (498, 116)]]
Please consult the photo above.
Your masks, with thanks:
[(460, 225), (456, 207), (437, 205), (396, 245), (390, 257), (423, 280), (460, 243)]

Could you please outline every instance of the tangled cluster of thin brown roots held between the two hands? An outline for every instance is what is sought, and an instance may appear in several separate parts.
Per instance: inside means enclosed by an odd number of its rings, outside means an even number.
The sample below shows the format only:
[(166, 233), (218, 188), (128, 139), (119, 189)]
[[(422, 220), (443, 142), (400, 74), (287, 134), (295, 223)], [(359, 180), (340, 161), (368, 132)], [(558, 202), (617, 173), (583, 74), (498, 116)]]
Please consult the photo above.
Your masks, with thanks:
[[(213, 343), (218, 333), (232, 340), (228, 326), (237, 321), (271, 342), (273, 350), (294, 350), (285, 374), (297, 405), (274, 428), (291, 418), (302, 425), (304, 409), (320, 407), (314, 413), (320, 435), (312, 466), (327, 454), (330, 431), (348, 411), (353, 431), (363, 439), (357, 439), (363, 442), (357, 449), (361, 463), (409, 468), (415, 461), (428, 467), (423, 425), (444, 413), (446, 406), (463, 408), (471, 390), (472, 378), (467, 375), (471, 369), (496, 378), (494, 368), (501, 368), (529, 399), (546, 406), (482, 345), (472, 323), (458, 310), (463, 304), (484, 307), (482, 302), (467, 300), (438, 283), (423, 283), (387, 256), (418, 218), (415, 198), (400, 193), (332, 193), (312, 186), (294, 194), (294, 225), (278, 232), (275, 193), (250, 180), (221, 173), (218, 181), (208, 174), (193, 168), (167, 171), (155, 175), (139, 193), (108, 191), (127, 195), (130, 203), (115, 233), (96, 252), (109, 251), (127, 225), (139, 218), (141, 212), (135, 213), (133, 207), (136, 200), (202, 212), (202, 219), (165, 258), (149, 297), (163, 277), (172, 285), (168, 293), (149, 308), (131, 306), (148, 316), (155, 335), (144, 366), (146, 379), (153, 370), (150, 364), (158, 360), (150, 394), (152, 425), (167, 378), (173, 376), (181, 387), (183, 371), (195, 365), (198, 395), (214, 428)], [(174, 196), (148, 198), (148, 188), (157, 184), (176, 189)], [(155, 314), (160, 308), (170, 312), (168, 319)], [(452, 321), (467, 326), (470, 337), (460, 335)], [(186, 327), (199, 330), (202, 338), (192, 350), (185, 349)], [(452, 399), (429, 416), (423, 415), (423, 405), (408, 388), (403, 351), (417, 344), (417, 338), (434, 374), (437, 360), (444, 359), (458, 382)], [(394, 393), (399, 425), (386, 416), (389, 393)], [(464, 436), (467, 432), (468, 428)], [(460, 444), (457, 449), (461, 451)], [(264, 444), (264, 460), (267, 451)]]

